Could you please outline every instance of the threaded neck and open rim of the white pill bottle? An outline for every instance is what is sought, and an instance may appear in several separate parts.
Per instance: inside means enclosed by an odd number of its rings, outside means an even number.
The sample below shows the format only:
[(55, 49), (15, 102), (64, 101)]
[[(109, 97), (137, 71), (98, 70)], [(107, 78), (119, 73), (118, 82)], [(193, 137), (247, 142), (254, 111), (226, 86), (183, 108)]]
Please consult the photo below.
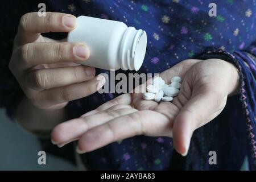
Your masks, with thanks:
[(121, 69), (138, 71), (144, 60), (147, 47), (147, 35), (143, 30), (128, 27), (123, 34), (119, 48)]

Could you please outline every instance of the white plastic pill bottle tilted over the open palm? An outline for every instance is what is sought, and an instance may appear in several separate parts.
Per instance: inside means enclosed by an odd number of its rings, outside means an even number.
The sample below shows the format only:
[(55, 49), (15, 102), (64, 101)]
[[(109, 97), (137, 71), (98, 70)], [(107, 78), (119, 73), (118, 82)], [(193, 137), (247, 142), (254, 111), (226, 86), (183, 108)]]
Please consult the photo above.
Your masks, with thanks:
[(146, 53), (147, 35), (122, 22), (79, 16), (77, 27), (68, 34), (68, 42), (81, 42), (89, 47), (89, 59), (79, 64), (138, 71)]

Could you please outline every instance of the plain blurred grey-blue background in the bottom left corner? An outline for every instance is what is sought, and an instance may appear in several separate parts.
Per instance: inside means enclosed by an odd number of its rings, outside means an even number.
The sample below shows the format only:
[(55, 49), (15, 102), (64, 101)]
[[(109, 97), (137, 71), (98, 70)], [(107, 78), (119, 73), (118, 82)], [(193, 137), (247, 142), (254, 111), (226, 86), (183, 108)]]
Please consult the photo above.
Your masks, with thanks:
[(38, 164), (39, 140), (10, 121), (0, 110), (0, 170), (76, 170), (74, 164), (46, 151), (46, 165)]

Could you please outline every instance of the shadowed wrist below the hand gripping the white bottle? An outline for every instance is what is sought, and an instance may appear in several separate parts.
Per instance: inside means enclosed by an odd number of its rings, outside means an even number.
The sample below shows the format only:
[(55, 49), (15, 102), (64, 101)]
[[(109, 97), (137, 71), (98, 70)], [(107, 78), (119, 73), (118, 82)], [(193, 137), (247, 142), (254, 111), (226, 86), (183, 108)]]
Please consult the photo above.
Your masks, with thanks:
[(15, 112), (18, 123), (26, 130), (37, 135), (47, 135), (60, 122), (65, 121), (65, 109), (38, 109), (24, 97)]

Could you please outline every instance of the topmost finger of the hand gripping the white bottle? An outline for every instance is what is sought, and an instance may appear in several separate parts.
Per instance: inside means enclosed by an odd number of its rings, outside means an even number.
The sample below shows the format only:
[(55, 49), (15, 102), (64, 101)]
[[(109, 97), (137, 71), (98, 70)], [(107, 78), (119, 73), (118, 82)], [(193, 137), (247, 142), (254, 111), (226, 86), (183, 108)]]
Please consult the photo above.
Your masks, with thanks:
[(27, 13), (20, 18), (18, 27), (18, 44), (34, 42), (40, 33), (69, 32), (76, 27), (76, 17), (64, 13), (47, 12), (39, 16), (37, 12)]

